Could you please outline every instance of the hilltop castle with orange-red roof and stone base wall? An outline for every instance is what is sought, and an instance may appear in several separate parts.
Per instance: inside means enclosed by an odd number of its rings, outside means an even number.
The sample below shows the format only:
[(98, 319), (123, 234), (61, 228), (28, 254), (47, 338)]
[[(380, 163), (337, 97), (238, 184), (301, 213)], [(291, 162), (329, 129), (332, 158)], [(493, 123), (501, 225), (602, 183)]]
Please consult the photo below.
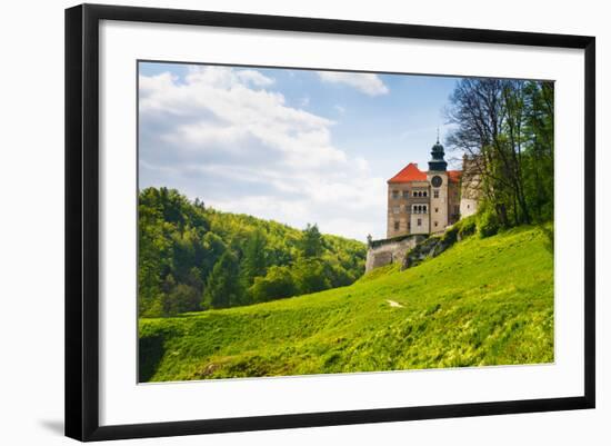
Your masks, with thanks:
[(478, 159), (462, 158), (462, 170), (448, 170), (443, 146), (431, 149), (429, 170), (410, 162), (388, 182), (387, 238), (368, 238), (365, 271), (403, 261), (431, 234), (443, 232), (461, 217), (477, 212)]

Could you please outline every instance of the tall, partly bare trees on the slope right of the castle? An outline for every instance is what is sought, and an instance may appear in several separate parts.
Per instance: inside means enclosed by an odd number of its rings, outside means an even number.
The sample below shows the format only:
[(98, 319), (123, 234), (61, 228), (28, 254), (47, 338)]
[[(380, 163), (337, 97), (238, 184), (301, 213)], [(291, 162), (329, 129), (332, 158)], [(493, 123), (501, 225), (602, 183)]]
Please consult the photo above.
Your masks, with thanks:
[(551, 81), (461, 79), (447, 108), (450, 149), (474, 162), (489, 230), (553, 219)]

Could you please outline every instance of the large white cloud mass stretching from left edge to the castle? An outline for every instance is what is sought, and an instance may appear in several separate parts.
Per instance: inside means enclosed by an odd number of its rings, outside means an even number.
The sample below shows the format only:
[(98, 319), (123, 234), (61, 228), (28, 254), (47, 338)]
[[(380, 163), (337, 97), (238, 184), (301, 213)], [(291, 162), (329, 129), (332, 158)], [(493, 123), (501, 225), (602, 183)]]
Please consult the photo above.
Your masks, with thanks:
[(270, 86), (228, 67), (140, 77), (141, 187), (364, 240), (384, 215), (383, 179), (333, 145), (333, 121), (287, 106)]

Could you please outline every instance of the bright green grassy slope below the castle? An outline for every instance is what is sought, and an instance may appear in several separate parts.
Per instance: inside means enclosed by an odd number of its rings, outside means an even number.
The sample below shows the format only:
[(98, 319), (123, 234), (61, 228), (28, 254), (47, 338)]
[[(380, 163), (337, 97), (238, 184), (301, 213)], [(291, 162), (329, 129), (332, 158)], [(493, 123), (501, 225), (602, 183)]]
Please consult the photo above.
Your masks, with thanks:
[[(140, 380), (553, 361), (553, 257), (535, 227), (400, 271), (249, 307), (140, 320)], [(402, 307), (391, 306), (393, 300)]]

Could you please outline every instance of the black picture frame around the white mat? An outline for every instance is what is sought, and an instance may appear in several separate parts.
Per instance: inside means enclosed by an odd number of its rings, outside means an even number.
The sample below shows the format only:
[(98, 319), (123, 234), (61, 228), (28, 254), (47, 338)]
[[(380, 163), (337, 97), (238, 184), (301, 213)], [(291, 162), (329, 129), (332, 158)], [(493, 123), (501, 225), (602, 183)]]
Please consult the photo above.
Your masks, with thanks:
[[(577, 397), (99, 424), (99, 24), (101, 20), (520, 44), (584, 50), (584, 393)], [(66, 10), (66, 435), (79, 440), (177, 436), (593, 408), (595, 39), (532, 32), (82, 4)]]

